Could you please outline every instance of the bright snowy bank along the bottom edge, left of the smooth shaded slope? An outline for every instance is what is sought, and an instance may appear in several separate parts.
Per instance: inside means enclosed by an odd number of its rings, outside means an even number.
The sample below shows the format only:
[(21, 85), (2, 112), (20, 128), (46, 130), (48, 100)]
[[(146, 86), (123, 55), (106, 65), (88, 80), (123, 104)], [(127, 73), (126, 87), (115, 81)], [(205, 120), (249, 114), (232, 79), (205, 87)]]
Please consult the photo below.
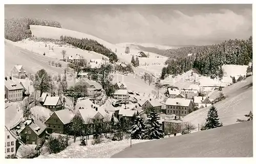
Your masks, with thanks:
[[(132, 144), (148, 140), (132, 140)], [(130, 146), (130, 139), (113, 141), (98, 145), (79, 146), (80, 142), (73, 143), (67, 149), (57, 154), (40, 155), (37, 158), (110, 158), (112, 155)]]

